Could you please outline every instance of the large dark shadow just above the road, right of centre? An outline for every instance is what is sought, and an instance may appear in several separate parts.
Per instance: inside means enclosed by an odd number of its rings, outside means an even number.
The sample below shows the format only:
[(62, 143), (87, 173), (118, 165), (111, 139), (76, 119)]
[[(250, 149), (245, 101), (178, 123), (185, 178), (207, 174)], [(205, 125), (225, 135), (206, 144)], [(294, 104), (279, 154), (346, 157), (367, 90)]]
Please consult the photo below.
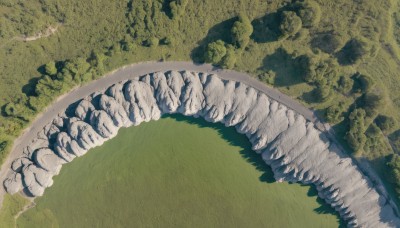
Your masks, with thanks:
[(275, 83), (277, 87), (286, 87), (303, 83), (304, 70), (299, 66), (298, 61), (288, 54), (283, 48), (278, 48), (273, 54), (267, 55), (262, 66), (262, 71), (275, 72)]

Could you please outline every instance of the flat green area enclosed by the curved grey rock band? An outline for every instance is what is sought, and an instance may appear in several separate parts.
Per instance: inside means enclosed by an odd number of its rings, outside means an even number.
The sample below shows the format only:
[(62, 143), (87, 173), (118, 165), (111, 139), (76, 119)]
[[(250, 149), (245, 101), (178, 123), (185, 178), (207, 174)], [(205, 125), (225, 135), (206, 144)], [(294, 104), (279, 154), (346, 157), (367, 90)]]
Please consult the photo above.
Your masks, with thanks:
[(233, 128), (168, 116), (64, 165), (19, 227), (338, 227), (308, 186), (273, 182)]

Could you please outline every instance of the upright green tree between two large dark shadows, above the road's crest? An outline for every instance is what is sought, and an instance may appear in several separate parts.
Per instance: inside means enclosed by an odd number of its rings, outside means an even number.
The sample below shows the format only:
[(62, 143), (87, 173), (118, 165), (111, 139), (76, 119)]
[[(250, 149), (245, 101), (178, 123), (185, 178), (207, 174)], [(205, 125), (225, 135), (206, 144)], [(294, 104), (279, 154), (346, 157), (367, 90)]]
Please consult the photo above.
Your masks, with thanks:
[(231, 29), (232, 41), (239, 48), (245, 48), (253, 33), (253, 26), (246, 14), (241, 13)]

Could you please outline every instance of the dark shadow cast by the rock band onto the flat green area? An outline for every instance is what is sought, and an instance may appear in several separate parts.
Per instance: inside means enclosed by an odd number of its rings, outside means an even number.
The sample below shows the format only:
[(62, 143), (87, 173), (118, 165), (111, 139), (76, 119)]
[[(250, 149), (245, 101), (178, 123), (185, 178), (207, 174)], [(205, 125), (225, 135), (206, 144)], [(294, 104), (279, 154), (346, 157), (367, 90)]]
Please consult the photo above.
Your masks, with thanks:
[[(240, 151), (242, 157), (262, 173), (261, 176), (259, 177), (259, 180), (261, 182), (266, 182), (266, 183), (275, 182), (271, 168), (267, 164), (265, 164), (260, 154), (255, 153), (251, 149), (251, 144), (247, 139), (247, 137), (245, 135), (237, 133), (234, 127), (226, 127), (222, 123), (211, 123), (207, 122), (203, 118), (187, 117), (181, 114), (165, 115), (162, 118), (173, 118), (178, 122), (186, 122), (189, 124), (194, 124), (199, 128), (212, 128), (216, 130), (218, 132), (218, 135), (222, 137), (224, 140), (226, 140), (230, 145), (242, 148), (242, 150)], [(314, 185), (304, 185), (304, 184), (301, 185), (309, 187), (307, 196), (309, 197), (317, 196), (317, 189)], [(342, 221), (339, 218), (339, 214), (332, 207), (330, 207), (323, 199), (319, 197), (317, 197), (316, 200), (320, 205), (318, 208), (314, 209), (316, 213), (336, 215), (337, 220), (340, 224), (339, 227), (345, 227), (344, 221)]]

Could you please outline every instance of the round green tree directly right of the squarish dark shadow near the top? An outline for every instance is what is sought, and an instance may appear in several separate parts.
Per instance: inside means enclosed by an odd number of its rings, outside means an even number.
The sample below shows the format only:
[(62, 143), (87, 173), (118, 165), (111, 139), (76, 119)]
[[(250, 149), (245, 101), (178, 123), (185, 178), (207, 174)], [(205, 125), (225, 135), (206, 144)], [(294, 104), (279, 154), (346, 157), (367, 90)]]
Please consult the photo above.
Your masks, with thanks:
[(287, 38), (295, 35), (302, 27), (301, 18), (292, 11), (283, 11), (279, 30), (282, 33), (281, 38)]

